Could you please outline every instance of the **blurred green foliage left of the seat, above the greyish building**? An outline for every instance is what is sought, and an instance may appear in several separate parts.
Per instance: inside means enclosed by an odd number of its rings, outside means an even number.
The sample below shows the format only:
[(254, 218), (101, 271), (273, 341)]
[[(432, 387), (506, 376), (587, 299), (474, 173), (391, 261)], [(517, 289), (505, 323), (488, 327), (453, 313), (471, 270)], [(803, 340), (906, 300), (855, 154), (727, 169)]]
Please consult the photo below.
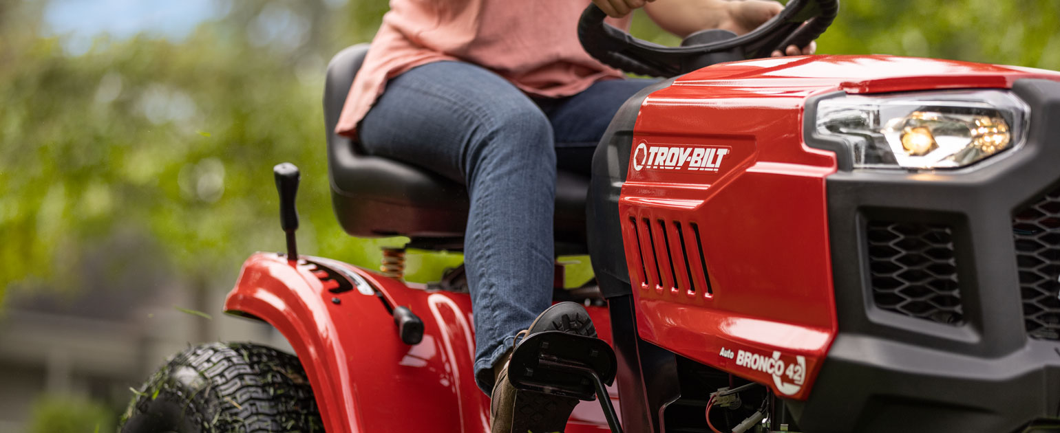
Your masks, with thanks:
[(200, 275), (280, 250), (282, 161), (303, 173), (302, 250), (371, 260), (376, 241), (350, 241), (331, 215), (324, 62), (257, 47), (237, 31), (253, 12), (237, 6), (181, 43), (101, 37), (81, 56), (34, 26), (0, 26), (0, 289), (70, 276), (116, 232), (156, 238), (160, 260)]

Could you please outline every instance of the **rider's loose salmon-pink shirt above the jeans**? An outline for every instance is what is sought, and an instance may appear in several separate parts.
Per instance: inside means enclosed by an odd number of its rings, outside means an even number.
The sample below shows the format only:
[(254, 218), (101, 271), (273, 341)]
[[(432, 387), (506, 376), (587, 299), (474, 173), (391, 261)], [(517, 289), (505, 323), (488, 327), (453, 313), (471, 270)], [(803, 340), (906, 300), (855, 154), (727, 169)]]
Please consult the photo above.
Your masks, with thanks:
[[(420, 65), (463, 60), (531, 95), (568, 96), (620, 77), (582, 49), (578, 18), (589, 0), (390, 0), (335, 130), (352, 136), (388, 79)], [(629, 28), (624, 18), (611, 22)]]

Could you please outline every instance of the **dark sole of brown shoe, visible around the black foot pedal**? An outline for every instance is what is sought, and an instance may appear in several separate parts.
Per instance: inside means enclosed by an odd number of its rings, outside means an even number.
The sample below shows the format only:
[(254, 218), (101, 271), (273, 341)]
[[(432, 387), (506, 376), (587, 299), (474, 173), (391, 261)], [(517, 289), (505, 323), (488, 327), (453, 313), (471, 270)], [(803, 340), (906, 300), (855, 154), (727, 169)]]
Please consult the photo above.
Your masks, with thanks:
[[(596, 326), (585, 308), (570, 302), (548, 307), (528, 329), (530, 333), (562, 330), (583, 337), (597, 337)], [(512, 433), (563, 432), (578, 402), (577, 398), (532, 391), (519, 392), (515, 395)]]

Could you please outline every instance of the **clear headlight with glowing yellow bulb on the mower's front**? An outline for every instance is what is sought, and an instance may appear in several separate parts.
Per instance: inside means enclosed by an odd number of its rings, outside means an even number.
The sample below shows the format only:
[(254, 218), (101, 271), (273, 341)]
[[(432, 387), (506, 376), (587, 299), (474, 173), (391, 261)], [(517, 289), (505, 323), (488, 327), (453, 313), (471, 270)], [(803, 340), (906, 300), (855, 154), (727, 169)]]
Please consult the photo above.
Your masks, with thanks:
[(1003, 90), (846, 95), (817, 104), (817, 132), (855, 168), (957, 168), (1023, 143), (1027, 105)]

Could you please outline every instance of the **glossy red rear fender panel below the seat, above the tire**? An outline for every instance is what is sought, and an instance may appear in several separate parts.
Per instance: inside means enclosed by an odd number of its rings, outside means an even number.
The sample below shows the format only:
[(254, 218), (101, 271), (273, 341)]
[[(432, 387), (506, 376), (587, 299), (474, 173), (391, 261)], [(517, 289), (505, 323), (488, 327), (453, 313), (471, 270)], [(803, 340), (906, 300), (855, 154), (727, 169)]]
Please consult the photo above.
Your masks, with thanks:
[[(393, 319), (376, 296), (357, 290), (331, 293), (331, 282), (321, 282), (314, 265), (294, 267), (277, 254), (258, 253), (247, 259), (225, 309), (262, 319), (287, 338), (310, 378), (329, 432), (488, 433), (489, 397), (473, 377), (470, 296), (409, 288), (343, 266), (393, 305), (407, 306), (419, 315), (424, 322), (423, 341), (414, 346), (402, 343)], [(600, 337), (610, 342), (606, 310), (590, 307), (589, 313)], [(614, 400), (616, 390), (612, 391)], [(567, 431), (610, 430), (599, 405), (583, 402)]]

